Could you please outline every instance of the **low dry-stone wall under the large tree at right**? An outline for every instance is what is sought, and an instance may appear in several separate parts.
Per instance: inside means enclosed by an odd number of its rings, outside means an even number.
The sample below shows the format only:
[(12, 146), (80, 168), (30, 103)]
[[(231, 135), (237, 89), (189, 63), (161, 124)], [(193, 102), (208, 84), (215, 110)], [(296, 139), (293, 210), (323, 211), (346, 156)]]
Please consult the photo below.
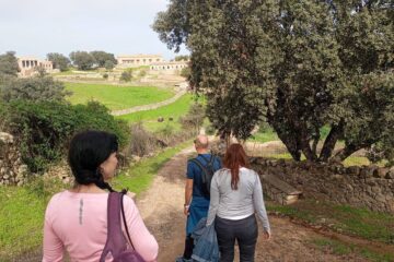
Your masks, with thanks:
[[(302, 191), (305, 198), (394, 214), (394, 168), (344, 167), (259, 157), (252, 158), (251, 165), (260, 175), (277, 176)], [(263, 189), (271, 193), (267, 184), (263, 184)]]

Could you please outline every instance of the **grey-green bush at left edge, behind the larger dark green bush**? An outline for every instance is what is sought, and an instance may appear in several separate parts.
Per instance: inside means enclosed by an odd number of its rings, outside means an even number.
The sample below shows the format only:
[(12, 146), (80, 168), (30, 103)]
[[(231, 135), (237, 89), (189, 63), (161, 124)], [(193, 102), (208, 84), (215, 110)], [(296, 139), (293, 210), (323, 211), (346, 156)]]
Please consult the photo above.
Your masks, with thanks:
[(8, 78), (0, 81), (0, 100), (65, 100), (71, 93), (51, 76), (38, 75), (28, 79)]

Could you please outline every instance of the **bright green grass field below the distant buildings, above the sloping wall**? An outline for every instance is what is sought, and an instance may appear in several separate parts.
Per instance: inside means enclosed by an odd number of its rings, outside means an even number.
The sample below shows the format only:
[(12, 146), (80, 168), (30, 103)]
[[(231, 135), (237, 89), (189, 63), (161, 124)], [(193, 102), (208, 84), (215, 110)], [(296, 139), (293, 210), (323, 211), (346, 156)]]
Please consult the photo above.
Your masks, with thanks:
[(172, 90), (153, 86), (117, 86), (106, 84), (65, 83), (73, 94), (68, 98), (72, 104), (97, 100), (111, 110), (119, 110), (162, 102), (174, 96)]

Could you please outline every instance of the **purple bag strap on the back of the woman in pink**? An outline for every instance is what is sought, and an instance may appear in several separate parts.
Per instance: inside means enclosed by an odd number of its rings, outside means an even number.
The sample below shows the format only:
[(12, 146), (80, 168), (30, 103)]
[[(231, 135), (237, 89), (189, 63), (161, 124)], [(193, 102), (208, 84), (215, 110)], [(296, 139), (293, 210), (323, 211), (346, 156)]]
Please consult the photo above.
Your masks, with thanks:
[(105, 262), (105, 258), (109, 252), (113, 258), (116, 258), (127, 249), (125, 237), (121, 233), (120, 210), (123, 210), (123, 193), (111, 192), (107, 206), (107, 240), (100, 262)]

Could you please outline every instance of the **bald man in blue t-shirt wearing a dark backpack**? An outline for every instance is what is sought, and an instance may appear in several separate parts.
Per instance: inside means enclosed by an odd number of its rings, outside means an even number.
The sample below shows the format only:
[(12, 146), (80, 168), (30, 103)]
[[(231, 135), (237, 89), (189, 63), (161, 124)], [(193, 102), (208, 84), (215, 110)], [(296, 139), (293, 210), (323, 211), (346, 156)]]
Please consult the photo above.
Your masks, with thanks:
[(208, 189), (210, 186), (204, 183), (202, 176), (208, 175), (211, 178), (213, 172), (221, 168), (219, 157), (209, 153), (209, 141), (207, 135), (198, 135), (194, 140), (194, 144), (198, 155), (197, 157), (189, 159), (187, 163), (185, 186), (184, 214), (187, 216), (185, 251), (183, 257), (176, 259), (176, 262), (192, 261), (194, 248), (192, 233), (197, 223), (201, 218), (208, 216), (210, 200)]

